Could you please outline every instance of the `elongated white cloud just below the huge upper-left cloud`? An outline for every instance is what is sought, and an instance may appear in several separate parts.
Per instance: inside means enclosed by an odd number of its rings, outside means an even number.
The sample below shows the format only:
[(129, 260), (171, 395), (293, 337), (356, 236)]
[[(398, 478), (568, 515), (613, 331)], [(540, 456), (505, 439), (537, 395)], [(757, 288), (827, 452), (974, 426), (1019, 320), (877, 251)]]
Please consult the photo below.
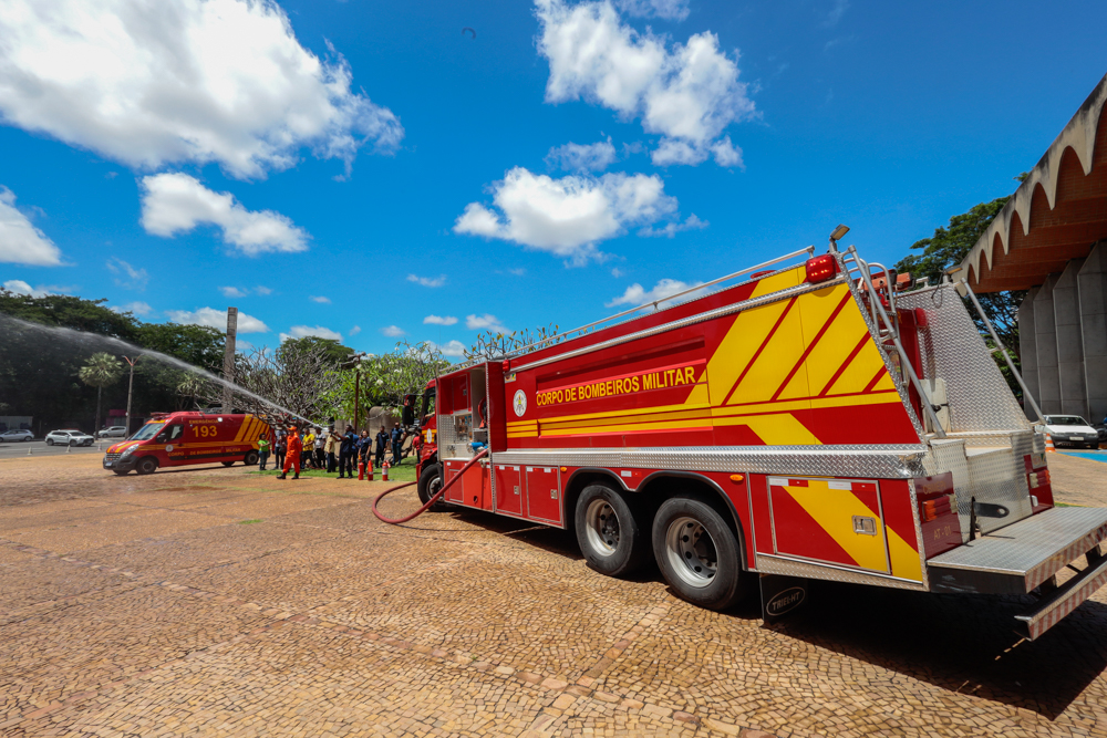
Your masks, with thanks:
[(209, 224), (223, 229), (223, 240), (256, 257), (267, 251), (306, 251), (308, 233), (272, 210), (247, 210), (230, 193), (215, 193), (186, 174), (143, 177), (142, 225), (166, 238)]

